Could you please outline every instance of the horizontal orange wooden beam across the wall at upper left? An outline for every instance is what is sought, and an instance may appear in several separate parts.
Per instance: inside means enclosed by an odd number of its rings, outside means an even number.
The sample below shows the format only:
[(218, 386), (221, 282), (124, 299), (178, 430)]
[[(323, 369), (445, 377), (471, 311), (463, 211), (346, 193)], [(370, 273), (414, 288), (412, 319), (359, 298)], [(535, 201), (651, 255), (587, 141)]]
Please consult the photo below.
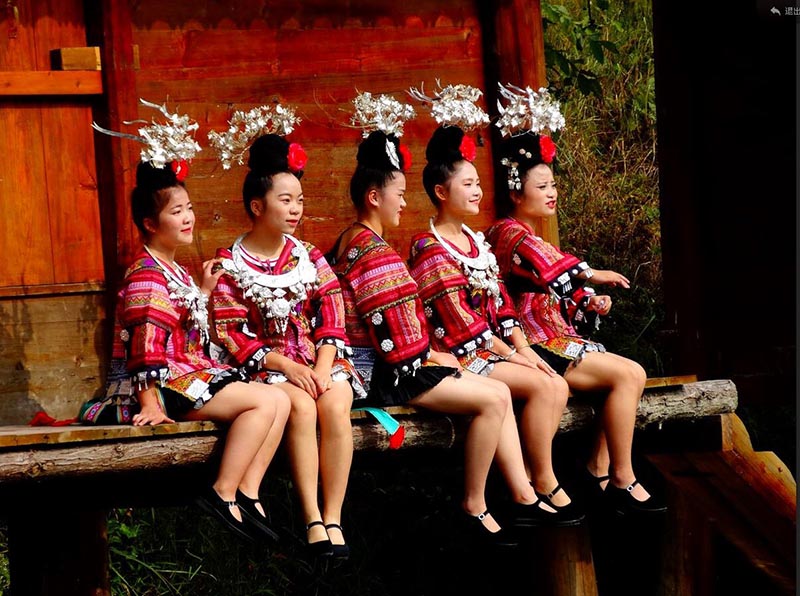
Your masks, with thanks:
[(0, 96), (101, 95), (98, 71), (0, 71)]

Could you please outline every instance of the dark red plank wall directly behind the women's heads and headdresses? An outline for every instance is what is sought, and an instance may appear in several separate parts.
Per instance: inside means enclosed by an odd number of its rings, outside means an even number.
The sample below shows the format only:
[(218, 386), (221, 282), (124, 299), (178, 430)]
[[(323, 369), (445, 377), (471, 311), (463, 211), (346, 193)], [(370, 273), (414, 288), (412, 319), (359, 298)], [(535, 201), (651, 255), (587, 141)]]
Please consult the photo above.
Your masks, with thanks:
[[(187, 11), (172, 3), (144, 1), (132, 12), (133, 41), (140, 69), (136, 92), (196, 118), (198, 138), (224, 130), (234, 110), (278, 100), (296, 106), (301, 117), (290, 139), (302, 144), (309, 161), (303, 177), (306, 211), (297, 234), (327, 249), (353, 219), (348, 194), (361, 131), (349, 126), (358, 91), (387, 93), (415, 104), (409, 86), (468, 83), (485, 88), (481, 28), (473, 3), (412, 0), (381, 2), (239, 3), (223, 9), (215, 2), (193, 3)], [(486, 104), (483, 105), (486, 108)], [(419, 105), (418, 118), (405, 129), (412, 151), (408, 208), (399, 230), (387, 237), (407, 253), (411, 233), (424, 228), (433, 207), (422, 189), (425, 144), (436, 127)], [(139, 110), (139, 117), (150, 117)], [(474, 224), (488, 223), (492, 165), (489, 135), (476, 165), (487, 181), (487, 209)], [(187, 182), (200, 218), (197, 263), (229, 245), (248, 228), (241, 201), (245, 166), (225, 171), (212, 150), (192, 164)]]

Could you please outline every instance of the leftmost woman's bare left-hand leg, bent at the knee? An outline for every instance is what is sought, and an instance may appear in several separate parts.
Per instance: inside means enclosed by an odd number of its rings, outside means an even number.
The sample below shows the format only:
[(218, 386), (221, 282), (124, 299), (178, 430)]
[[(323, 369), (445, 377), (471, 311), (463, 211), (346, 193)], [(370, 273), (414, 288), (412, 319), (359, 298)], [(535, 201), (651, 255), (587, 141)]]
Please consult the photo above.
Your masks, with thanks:
[[(253, 463), (273, 425), (280, 428), (281, 408), (286, 394), (280, 389), (256, 383), (231, 383), (223, 387), (187, 420), (215, 420), (230, 423), (214, 490), (225, 501), (234, 501), (236, 489)], [(266, 469), (266, 468), (265, 468)], [(238, 509), (232, 511), (241, 521)]]

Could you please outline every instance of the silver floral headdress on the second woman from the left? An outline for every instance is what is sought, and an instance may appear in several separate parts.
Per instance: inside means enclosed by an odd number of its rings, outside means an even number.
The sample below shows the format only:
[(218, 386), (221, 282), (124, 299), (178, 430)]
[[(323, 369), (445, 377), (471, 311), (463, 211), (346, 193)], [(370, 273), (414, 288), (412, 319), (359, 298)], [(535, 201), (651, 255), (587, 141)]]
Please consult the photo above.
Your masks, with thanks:
[(266, 134), (286, 136), (299, 122), (294, 108), (280, 104), (259, 106), (248, 112), (237, 110), (228, 120), (228, 130), (223, 133), (211, 131), (208, 140), (222, 167), (228, 170), (233, 161), (239, 165), (244, 163), (244, 154), (256, 138)]

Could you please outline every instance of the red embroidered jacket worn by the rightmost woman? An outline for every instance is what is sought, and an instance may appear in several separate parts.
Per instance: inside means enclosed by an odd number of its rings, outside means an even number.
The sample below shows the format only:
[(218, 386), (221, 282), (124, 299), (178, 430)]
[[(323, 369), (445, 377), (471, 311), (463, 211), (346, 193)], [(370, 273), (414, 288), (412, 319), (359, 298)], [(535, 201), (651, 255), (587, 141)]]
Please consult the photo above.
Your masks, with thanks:
[(596, 324), (594, 313), (585, 310), (595, 292), (578, 277), (589, 269), (585, 262), (561, 252), (513, 218), (496, 222), (486, 237), (494, 246), (501, 275), (530, 343), (578, 336), (576, 325)]

